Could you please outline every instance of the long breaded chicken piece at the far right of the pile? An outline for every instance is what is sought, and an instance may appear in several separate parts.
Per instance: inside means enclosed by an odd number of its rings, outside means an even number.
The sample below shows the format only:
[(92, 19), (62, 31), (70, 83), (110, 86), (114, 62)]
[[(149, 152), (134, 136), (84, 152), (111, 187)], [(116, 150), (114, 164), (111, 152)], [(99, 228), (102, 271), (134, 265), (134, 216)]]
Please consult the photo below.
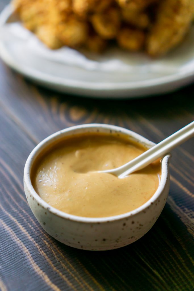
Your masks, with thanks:
[(163, 0), (148, 39), (147, 52), (156, 57), (181, 42), (188, 31), (194, 11), (193, 0)]

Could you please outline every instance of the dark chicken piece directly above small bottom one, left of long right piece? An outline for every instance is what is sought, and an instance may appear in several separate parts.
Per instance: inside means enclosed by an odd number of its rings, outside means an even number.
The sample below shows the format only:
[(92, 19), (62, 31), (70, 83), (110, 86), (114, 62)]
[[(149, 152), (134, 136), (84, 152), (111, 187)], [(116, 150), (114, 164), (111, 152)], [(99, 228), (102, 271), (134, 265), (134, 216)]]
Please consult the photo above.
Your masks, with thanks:
[(144, 11), (122, 9), (121, 15), (124, 22), (132, 24), (138, 28), (145, 29), (150, 25), (149, 16)]

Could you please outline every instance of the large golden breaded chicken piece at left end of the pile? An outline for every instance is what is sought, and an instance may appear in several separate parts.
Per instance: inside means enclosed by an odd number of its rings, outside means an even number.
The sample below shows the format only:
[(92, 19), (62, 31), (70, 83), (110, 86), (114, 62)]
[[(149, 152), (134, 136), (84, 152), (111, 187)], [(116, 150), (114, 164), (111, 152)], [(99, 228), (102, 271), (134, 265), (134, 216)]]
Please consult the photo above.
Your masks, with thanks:
[(88, 24), (71, 14), (71, 0), (16, 0), (24, 26), (51, 49), (79, 47), (88, 37)]

